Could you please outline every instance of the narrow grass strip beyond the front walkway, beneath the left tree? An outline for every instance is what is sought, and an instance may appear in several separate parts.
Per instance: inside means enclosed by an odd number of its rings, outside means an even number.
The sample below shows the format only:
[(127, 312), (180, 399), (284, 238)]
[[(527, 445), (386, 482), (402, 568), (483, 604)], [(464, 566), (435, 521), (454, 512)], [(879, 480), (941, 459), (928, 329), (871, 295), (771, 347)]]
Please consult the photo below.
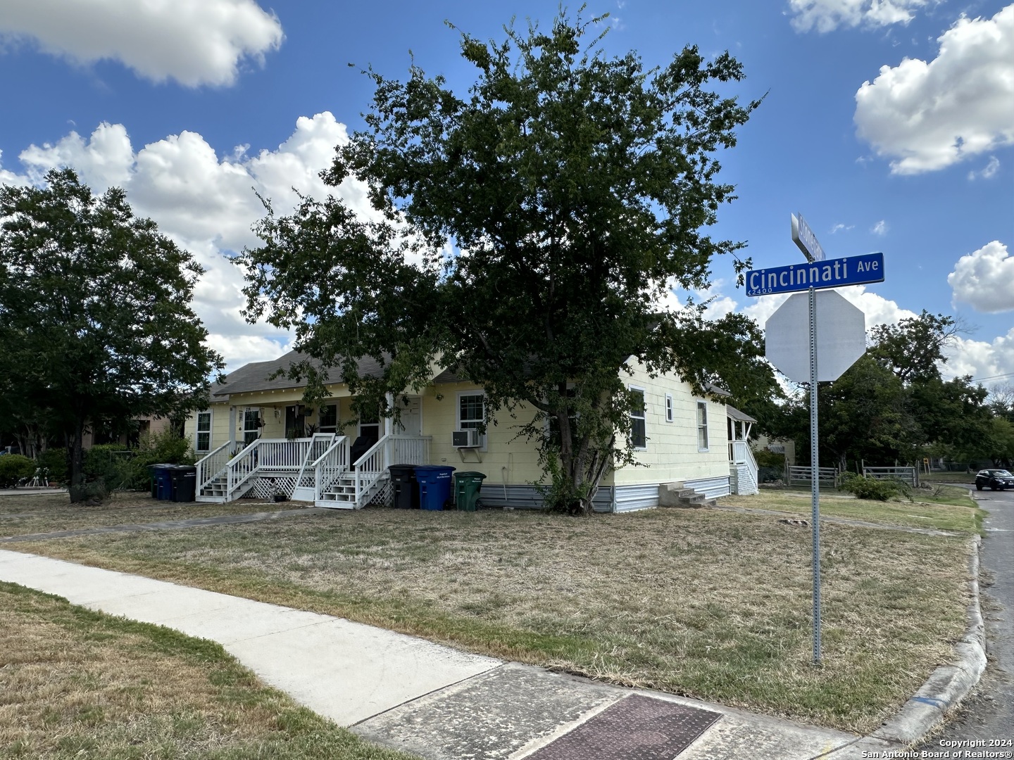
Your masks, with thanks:
[(292, 502), (240, 499), (229, 504), (160, 502), (144, 492), (118, 492), (103, 504), (71, 504), (67, 493), (0, 497), (0, 538), (79, 528), (158, 523), (218, 515), (245, 515), (296, 509)]

